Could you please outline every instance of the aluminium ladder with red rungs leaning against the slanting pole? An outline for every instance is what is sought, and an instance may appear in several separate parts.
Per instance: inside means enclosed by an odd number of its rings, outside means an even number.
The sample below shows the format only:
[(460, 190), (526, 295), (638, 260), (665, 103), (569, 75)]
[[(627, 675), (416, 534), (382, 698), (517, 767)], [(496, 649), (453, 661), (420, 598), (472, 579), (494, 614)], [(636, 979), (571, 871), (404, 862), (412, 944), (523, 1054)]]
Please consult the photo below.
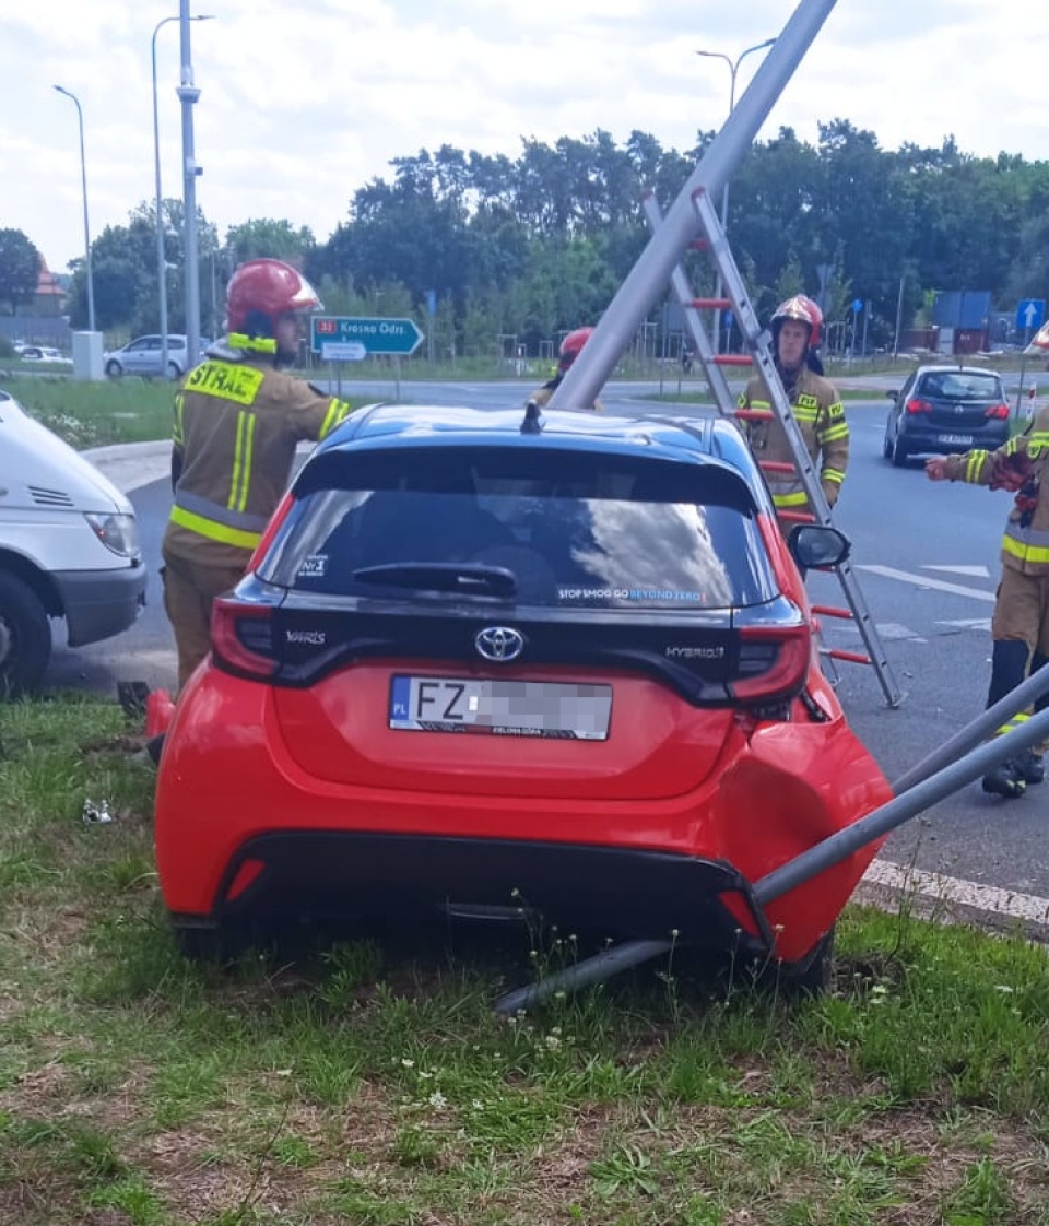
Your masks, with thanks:
[[(772, 414), (782, 425), (783, 432), (787, 435), (790, 454), (794, 457), (794, 463), (782, 465), (770, 461), (759, 461), (760, 466), (766, 473), (797, 471), (801, 487), (809, 499), (809, 506), (812, 509), (811, 515), (808, 512), (799, 514), (783, 511), (779, 512), (778, 517), (783, 521), (793, 519), (797, 522), (815, 521), (819, 524), (830, 524), (831, 509), (824, 495), (819, 474), (812, 463), (812, 457), (809, 455), (809, 449), (805, 446), (801, 430), (793, 412), (790, 411), (790, 402), (783, 387), (783, 381), (779, 378), (779, 371), (776, 369), (772, 349), (770, 347), (770, 333), (762, 330), (759, 324), (757, 315), (751, 305), (750, 297), (746, 293), (743, 277), (740, 276), (739, 268), (733, 259), (728, 240), (724, 230), (722, 229), (721, 221), (718, 219), (717, 210), (703, 188), (695, 190), (691, 199), (702, 237), (696, 243), (690, 245), (695, 249), (707, 251), (711, 256), (727, 297), (697, 298), (694, 294), (685, 270), (680, 264), (670, 273), (670, 288), (684, 310), (689, 335), (692, 345), (695, 346), (696, 354), (702, 363), (703, 373), (706, 374), (707, 383), (713, 392), (718, 412), (722, 417), (728, 417), (734, 421), (757, 417), (767, 418), (768, 414), (766, 412), (759, 413), (739, 409), (737, 407), (735, 397), (729, 389), (723, 368), (752, 367), (757, 370), (768, 387), (770, 400), (772, 402)], [(652, 229), (658, 229), (663, 218), (654, 194), (651, 191), (647, 192), (642, 200), (642, 205)], [(748, 352), (745, 354), (716, 353), (714, 346), (707, 332), (707, 327), (700, 315), (702, 310), (722, 311), (729, 308), (735, 315), (735, 321), (739, 325), (740, 333), (746, 346)], [(822, 617), (836, 617), (854, 620), (864, 641), (864, 646), (866, 647), (866, 655), (824, 647), (820, 649), (821, 655), (825, 655), (835, 661), (847, 660), (855, 663), (871, 664), (879, 684), (881, 685), (882, 693), (885, 694), (886, 702), (891, 707), (897, 707), (903, 701), (904, 695), (896, 682), (892, 667), (890, 666), (881, 646), (877, 629), (866, 608), (863, 593), (859, 590), (859, 584), (853, 574), (852, 565), (849, 560), (846, 559), (839, 565), (835, 566), (833, 570), (841, 582), (848, 608), (839, 609), (817, 604), (812, 607), (812, 613)]]

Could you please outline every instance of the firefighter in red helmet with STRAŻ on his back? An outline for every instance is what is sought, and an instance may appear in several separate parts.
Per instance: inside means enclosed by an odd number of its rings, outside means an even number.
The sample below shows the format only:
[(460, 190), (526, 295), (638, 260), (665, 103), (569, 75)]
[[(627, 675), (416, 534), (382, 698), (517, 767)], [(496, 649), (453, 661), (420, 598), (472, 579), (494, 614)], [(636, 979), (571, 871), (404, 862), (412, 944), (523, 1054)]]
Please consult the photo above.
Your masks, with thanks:
[(293, 378), (321, 303), (281, 260), (250, 260), (227, 291), (227, 335), (175, 394), (174, 505), (162, 544), (164, 609), (179, 689), (207, 655), (211, 604), (244, 575), (292, 474), (295, 445), (322, 439), (349, 405)]

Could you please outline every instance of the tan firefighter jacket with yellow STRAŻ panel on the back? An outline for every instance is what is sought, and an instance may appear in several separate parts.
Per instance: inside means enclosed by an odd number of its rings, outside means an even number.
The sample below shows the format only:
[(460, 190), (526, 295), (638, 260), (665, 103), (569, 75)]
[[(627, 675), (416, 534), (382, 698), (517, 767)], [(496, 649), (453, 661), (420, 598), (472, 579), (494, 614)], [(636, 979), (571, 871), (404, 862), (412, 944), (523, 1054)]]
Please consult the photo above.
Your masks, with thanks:
[(322, 439), (349, 412), (268, 357), (210, 349), (175, 394), (164, 554), (246, 569), (288, 485), (297, 444)]

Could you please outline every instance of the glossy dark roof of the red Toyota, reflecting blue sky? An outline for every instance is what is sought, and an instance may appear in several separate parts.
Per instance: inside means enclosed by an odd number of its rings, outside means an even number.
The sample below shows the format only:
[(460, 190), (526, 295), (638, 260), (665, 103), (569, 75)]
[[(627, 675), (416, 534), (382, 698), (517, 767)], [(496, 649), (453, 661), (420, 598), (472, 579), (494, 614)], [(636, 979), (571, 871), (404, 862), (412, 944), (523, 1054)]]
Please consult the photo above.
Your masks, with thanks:
[(314, 452), (400, 446), (550, 446), (703, 462), (717, 460), (757, 474), (740, 432), (717, 417), (616, 417), (543, 409), (542, 428), (523, 432), (524, 408), (460, 408), (447, 405), (369, 405), (357, 409)]

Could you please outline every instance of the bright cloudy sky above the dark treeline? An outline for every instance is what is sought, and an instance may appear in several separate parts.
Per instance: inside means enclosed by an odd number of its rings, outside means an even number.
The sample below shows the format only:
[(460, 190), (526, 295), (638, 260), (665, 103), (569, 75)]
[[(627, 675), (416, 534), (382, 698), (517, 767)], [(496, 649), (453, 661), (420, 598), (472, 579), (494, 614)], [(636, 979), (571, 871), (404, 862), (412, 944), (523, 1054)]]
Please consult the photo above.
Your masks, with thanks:
[[(723, 123), (729, 65), (794, 0), (194, 0), (197, 202), (219, 234), (287, 218), (324, 242), (391, 158), (442, 143), (516, 158), (522, 139), (634, 129), (686, 150)], [(92, 237), (154, 196), (151, 47), (178, 0), (2, 0), (0, 228), (62, 271), (83, 254), (77, 114)], [(163, 194), (181, 196), (180, 23), (157, 31)], [(737, 101), (763, 53), (737, 76)], [(837, 0), (760, 134), (815, 141), (848, 119), (882, 148), (1049, 159), (1049, 6)]]

